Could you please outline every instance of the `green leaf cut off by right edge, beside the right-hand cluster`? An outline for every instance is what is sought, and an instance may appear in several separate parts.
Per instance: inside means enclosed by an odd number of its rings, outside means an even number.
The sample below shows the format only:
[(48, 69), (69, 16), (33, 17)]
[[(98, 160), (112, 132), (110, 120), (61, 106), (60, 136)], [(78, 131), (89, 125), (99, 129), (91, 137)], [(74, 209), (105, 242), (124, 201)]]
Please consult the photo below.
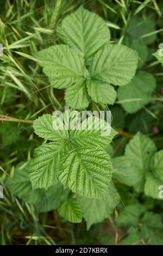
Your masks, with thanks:
[(154, 154), (151, 163), (151, 170), (156, 178), (163, 181), (163, 150)]

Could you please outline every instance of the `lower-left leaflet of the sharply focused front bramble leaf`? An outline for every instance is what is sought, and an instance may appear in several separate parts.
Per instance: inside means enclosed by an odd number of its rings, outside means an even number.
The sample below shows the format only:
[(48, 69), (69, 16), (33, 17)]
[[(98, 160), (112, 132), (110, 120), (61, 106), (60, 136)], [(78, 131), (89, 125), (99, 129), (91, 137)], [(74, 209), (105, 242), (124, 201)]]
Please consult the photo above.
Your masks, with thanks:
[(33, 189), (48, 188), (58, 183), (59, 164), (62, 156), (70, 151), (70, 145), (51, 142), (37, 147), (30, 160), (30, 181)]

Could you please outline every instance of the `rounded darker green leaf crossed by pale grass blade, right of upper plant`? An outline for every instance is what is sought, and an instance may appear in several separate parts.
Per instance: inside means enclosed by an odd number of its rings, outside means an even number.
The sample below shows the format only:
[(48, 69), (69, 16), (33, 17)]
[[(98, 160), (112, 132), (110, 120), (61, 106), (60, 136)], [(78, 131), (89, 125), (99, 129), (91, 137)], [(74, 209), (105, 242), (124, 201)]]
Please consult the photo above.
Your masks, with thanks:
[(155, 87), (154, 76), (140, 71), (127, 86), (118, 88), (117, 98), (124, 110), (134, 113), (151, 101)]

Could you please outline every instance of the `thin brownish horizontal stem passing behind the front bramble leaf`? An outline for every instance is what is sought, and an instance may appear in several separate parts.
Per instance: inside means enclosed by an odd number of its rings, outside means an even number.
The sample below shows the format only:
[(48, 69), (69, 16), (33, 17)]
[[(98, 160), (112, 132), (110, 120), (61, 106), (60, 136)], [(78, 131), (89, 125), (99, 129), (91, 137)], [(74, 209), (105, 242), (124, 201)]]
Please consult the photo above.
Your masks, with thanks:
[[(31, 124), (33, 123), (32, 120), (18, 119), (18, 118), (11, 117), (11, 116), (8, 116), (8, 115), (0, 115), (0, 121), (10, 121), (10, 122), (18, 122), (18, 123), (31, 123)], [(117, 129), (115, 129), (115, 130), (120, 135), (126, 136), (128, 138), (133, 138), (132, 134), (124, 132), (123, 130), (117, 130)]]

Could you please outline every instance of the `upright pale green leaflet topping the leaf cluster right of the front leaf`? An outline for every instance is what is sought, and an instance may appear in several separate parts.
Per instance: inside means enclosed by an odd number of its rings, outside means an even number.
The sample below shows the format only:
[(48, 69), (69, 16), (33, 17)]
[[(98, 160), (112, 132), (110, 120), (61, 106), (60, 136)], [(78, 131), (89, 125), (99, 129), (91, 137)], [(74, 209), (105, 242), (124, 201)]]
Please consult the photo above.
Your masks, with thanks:
[(149, 171), (151, 157), (155, 151), (154, 142), (141, 133), (137, 133), (126, 146), (125, 155), (131, 163), (131, 168), (139, 171), (140, 174), (140, 181), (136, 184), (136, 186), (140, 185), (139, 192), (143, 190), (143, 180), (146, 172)]

